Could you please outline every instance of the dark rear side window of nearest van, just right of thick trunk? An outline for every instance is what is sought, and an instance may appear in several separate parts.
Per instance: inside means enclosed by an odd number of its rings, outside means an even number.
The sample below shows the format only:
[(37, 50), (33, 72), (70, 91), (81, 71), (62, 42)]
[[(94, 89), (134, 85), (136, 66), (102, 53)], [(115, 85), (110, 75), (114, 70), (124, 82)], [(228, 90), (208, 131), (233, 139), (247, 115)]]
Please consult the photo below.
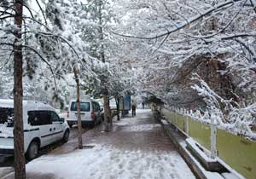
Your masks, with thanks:
[(29, 111), (28, 124), (31, 125), (47, 125), (51, 123), (51, 116), (49, 111)]

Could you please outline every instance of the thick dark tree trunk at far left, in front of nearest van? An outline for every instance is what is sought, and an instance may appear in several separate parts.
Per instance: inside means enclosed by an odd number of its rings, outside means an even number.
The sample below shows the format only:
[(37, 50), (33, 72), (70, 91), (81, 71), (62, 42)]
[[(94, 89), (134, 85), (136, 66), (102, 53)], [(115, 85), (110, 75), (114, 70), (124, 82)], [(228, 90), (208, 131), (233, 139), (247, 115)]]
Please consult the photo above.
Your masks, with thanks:
[(15, 146), (15, 179), (26, 179), (26, 160), (24, 155), (24, 130), (23, 130), (23, 56), (22, 56), (22, 14), (23, 1), (15, 0), (15, 31), (14, 43), (14, 146)]

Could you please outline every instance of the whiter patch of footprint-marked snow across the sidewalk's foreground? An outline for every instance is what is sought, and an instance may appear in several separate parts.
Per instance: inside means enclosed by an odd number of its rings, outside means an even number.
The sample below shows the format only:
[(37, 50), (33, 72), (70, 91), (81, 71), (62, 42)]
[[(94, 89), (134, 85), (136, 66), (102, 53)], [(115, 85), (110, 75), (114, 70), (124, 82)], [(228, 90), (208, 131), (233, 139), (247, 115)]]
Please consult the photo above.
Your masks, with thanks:
[(26, 165), (27, 172), (58, 179), (194, 179), (177, 152), (119, 150), (97, 145), (73, 153), (43, 156)]

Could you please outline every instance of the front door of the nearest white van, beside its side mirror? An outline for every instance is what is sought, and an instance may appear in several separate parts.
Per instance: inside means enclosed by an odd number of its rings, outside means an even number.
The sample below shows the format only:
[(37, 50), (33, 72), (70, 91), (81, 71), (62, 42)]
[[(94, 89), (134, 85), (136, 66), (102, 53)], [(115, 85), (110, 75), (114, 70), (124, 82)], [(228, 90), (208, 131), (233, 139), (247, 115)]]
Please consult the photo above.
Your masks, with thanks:
[(59, 141), (61, 140), (62, 136), (63, 136), (63, 130), (61, 127), (61, 118), (58, 116), (58, 114), (56, 114), (55, 112), (51, 111), (50, 112), (50, 118), (52, 121), (52, 135), (53, 135), (53, 141)]

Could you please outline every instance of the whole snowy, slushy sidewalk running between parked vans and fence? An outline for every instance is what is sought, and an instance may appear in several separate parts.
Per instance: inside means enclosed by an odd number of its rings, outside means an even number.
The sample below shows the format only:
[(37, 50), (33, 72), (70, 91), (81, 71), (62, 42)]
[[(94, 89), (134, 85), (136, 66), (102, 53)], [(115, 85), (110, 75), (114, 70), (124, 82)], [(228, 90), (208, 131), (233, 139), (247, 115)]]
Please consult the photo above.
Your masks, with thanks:
[(28, 163), (27, 178), (195, 179), (148, 110), (115, 121), (107, 134), (102, 126), (90, 130), (83, 140), (87, 147), (82, 150), (73, 140)]

